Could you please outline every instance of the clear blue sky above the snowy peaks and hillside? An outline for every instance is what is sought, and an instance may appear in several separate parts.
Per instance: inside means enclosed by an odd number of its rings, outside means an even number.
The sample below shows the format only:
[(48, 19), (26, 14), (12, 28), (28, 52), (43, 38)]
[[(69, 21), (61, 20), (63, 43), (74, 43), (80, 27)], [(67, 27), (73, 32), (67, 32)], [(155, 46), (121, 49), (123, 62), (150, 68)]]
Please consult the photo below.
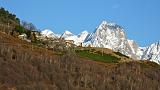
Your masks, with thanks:
[(0, 0), (0, 6), (39, 29), (92, 32), (103, 21), (125, 28), (141, 46), (160, 40), (160, 0)]

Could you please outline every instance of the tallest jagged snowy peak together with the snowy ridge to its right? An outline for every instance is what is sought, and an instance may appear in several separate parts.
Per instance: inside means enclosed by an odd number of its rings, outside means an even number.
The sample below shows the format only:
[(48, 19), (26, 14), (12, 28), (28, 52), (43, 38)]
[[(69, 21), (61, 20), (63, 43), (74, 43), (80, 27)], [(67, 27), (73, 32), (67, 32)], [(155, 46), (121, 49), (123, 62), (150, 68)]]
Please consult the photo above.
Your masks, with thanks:
[(103, 21), (84, 43), (85, 46), (109, 48), (133, 59), (149, 60), (160, 64), (159, 42), (141, 48), (135, 41), (127, 39), (124, 29), (114, 23)]

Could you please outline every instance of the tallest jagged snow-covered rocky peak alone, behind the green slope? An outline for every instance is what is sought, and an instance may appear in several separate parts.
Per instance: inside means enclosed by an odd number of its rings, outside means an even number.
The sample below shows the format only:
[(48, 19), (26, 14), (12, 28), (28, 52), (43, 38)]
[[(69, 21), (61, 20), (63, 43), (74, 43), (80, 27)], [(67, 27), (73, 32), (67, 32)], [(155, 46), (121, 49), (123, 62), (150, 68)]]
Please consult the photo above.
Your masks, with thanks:
[[(137, 44), (125, 36), (124, 29), (115, 24), (103, 21), (98, 28), (86, 39), (85, 46), (109, 48), (127, 56), (136, 58)], [(133, 47), (134, 46), (134, 47)]]

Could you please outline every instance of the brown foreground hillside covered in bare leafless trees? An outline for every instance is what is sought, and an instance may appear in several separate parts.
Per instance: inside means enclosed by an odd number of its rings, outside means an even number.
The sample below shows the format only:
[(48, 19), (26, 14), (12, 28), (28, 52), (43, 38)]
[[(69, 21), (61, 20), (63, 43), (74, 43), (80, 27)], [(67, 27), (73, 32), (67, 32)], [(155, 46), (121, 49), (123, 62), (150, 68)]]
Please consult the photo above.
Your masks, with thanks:
[(56, 55), (0, 32), (0, 90), (160, 90), (160, 66)]

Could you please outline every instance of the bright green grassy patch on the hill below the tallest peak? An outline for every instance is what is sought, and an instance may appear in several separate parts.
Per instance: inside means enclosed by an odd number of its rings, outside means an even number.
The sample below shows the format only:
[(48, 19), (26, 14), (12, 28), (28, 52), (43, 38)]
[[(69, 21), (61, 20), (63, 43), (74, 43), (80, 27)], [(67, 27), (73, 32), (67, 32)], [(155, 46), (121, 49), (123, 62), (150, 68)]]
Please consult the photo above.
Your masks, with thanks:
[(79, 57), (104, 63), (131, 61), (128, 56), (125, 56), (119, 52), (114, 52), (107, 48), (76, 47), (75, 52)]

